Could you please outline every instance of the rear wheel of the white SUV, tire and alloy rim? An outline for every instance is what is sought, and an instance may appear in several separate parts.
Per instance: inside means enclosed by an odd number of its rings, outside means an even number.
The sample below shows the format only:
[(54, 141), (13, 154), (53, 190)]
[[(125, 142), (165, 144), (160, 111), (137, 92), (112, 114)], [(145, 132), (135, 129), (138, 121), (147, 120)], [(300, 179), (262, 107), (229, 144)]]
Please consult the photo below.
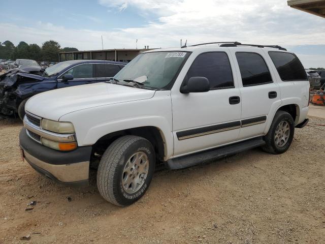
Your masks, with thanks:
[[(286, 125), (288, 125), (288, 129)], [(281, 130), (278, 130), (280, 128), (285, 128), (282, 129), (284, 133)], [(295, 121), (293, 117), (285, 111), (277, 111), (270, 130), (264, 137), (266, 145), (264, 145), (262, 149), (271, 154), (283, 154), (290, 147), (291, 142), (294, 139), (294, 134)]]

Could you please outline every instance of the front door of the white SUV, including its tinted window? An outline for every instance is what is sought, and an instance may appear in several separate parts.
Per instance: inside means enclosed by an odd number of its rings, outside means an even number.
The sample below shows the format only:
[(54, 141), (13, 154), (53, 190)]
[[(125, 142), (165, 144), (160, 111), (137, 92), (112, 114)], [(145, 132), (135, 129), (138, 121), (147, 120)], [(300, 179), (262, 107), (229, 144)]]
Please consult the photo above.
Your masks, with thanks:
[(174, 156), (231, 143), (240, 132), (241, 95), (229, 53), (198, 55), (184, 82), (198, 76), (208, 78), (209, 92), (182, 94), (172, 89)]

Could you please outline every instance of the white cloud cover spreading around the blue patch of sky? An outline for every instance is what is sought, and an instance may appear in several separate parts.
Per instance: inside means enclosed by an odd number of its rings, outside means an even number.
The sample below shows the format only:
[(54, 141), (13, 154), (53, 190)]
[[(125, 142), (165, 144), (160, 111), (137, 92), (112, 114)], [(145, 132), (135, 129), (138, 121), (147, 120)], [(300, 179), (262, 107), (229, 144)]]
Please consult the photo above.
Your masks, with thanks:
[[(58, 41), (78, 49), (178, 46), (212, 41), (239, 41), (265, 45), (325, 43), (324, 19), (287, 6), (284, 0), (99, 0), (108, 11), (133, 8), (139, 15), (154, 16), (145, 26), (92, 31), (68, 29), (50, 23), (35, 27), (0, 24), (0, 33), (16, 44)], [(91, 17), (91, 16), (89, 16)], [(157, 18), (156, 18), (157, 17)], [(100, 21), (98, 16), (93, 21)]]

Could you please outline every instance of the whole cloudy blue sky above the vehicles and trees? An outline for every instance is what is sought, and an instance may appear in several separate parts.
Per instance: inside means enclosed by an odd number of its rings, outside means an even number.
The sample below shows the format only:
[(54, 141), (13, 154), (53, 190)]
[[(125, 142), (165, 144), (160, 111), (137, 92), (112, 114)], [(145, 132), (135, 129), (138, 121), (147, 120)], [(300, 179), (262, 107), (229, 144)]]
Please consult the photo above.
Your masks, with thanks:
[[(0, 42), (55, 40), (79, 50), (238, 41), (280, 45), (305, 68), (325, 67), (325, 18), (286, 0), (1, 1)], [(136, 44), (136, 40), (138, 43)]]

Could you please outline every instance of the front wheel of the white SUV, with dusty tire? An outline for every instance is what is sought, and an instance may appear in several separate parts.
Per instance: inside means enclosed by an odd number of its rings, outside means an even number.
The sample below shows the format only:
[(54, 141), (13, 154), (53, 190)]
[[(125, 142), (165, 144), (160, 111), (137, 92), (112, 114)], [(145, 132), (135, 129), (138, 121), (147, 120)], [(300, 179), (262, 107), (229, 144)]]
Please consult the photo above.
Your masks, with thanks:
[[(100, 161), (98, 190), (104, 199), (115, 205), (131, 205), (147, 191), (154, 168), (155, 152), (151, 143), (139, 136), (122, 136), (106, 149)], [(136, 181), (139, 184), (135, 184)]]

